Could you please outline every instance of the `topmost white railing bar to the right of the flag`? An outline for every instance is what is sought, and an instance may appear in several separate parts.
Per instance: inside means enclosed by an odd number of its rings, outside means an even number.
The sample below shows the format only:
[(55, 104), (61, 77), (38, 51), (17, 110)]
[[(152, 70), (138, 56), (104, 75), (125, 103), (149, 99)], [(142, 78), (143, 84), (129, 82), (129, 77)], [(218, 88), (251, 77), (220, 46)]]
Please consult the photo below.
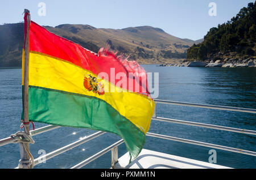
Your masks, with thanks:
[(244, 112), (244, 113), (256, 113), (256, 109), (248, 109), (248, 108), (236, 108), (236, 107), (230, 107), (230, 106), (195, 104), (195, 103), (189, 103), (189, 102), (166, 101), (166, 100), (154, 100), (154, 101), (160, 104), (172, 104), (172, 105), (180, 105), (180, 106), (191, 106), (196, 108), (230, 110), (234, 112)]

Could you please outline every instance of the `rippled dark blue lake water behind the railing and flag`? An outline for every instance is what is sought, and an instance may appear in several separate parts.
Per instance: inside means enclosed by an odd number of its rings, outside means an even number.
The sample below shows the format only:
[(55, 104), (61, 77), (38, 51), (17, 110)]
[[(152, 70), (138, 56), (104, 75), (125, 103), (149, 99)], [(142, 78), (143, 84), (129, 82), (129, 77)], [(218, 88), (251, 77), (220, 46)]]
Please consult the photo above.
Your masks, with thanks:
[[(155, 65), (143, 67), (147, 72), (159, 72), (158, 99), (256, 109), (256, 68), (156, 67)], [(0, 139), (20, 130), (21, 112), (21, 70), (0, 69)], [(156, 114), (158, 117), (256, 130), (255, 114), (250, 113), (157, 104)], [(46, 126), (43, 123), (35, 125), (36, 128)], [(73, 135), (73, 132), (76, 134)], [(35, 144), (31, 145), (31, 153), (36, 158), (40, 156), (38, 154), (40, 149), (49, 153), (93, 132), (96, 131), (61, 127), (33, 136)], [(256, 151), (254, 135), (158, 121), (151, 122), (150, 132)], [(53, 157), (46, 163), (36, 165), (35, 168), (71, 168), (119, 139), (117, 135), (104, 134), (60, 156)], [(144, 148), (205, 162), (208, 162), (210, 156), (208, 152), (212, 149), (149, 136), (146, 137)], [(215, 150), (219, 165), (232, 168), (256, 168), (254, 156)], [(119, 157), (126, 153), (125, 144), (118, 147), (118, 153)], [(0, 168), (16, 167), (19, 158), (18, 144), (0, 147)], [(110, 165), (109, 152), (84, 168), (109, 168)]]

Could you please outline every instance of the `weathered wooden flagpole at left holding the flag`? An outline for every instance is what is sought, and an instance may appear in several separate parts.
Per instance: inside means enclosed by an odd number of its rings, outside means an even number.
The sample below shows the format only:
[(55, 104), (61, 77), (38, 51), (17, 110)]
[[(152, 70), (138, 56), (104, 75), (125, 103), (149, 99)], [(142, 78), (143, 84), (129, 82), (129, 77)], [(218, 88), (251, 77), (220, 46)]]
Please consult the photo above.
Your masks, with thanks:
[[(24, 84), (23, 84), (23, 125), (24, 132), (30, 135), (29, 117), (28, 117), (28, 65), (30, 59), (30, 11), (24, 10), (27, 18), (26, 38), (24, 46)], [(27, 14), (27, 16), (26, 16)], [(25, 21), (26, 22), (26, 21)], [(24, 24), (25, 25), (25, 24)], [(30, 143), (20, 143), (20, 168), (32, 168), (30, 165)]]

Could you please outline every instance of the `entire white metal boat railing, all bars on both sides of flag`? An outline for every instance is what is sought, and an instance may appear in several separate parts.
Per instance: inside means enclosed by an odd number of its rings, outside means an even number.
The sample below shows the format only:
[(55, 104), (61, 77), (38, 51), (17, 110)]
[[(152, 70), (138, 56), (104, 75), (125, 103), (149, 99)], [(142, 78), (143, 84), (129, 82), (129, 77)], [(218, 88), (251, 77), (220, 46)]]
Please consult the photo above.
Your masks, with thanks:
[[(154, 100), (156, 103), (160, 104), (172, 104), (172, 105), (181, 105), (181, 106), (193, 106), (196, 108), (207, 108), (207, 109), (218, 109), (218, 110), (228, 110), (228, 111), (235, 111), (235, 112), (245, 112), (245, 113), (256, 113), (256, 109), (247, 109), (247, 108), (235, 108), (235, 107), (229, 107), (229, 106), (216, 106), (216, 105), (205, 105), (205, 104), (192, 104), (188, 102), (177, 102), (177, 101), (166, 101), (166, 100)], [(178, 120), (178, 119), (170, 119), (170, 118), (162, 118), (162, 117), (156, 117), (156, 114), (152, 117), (152, 120), (155, 121), (164, 121), (164, 122), (171, 122), (171, 123), (179, 123), (182, 125), (190, 125), (190, 126), (199, 126), (199, 127), (205, 127), (205, 128), (213, 128), (217, 130), (224, 130), (224, 131), (232, 131), (232, 132), (238, 132), (238, 133), (243, 133), (243, 134), (250, 134), (250, 135), (256, 135), (256, 131), (254, 130), (245, 130), (241, 128), (233, 128), (233, 127), (225, 127), (225, 126), (218, 126), (218, 125), (210, 125), (210, 124), (205, 124), (205, 123), (197, 123), (197, 122), (191, 122), (191, 121), (183, 121), (183, 120)], [(44, 127), (37, 128), (36, 130), (31, 131), (31, 136), (42, 134), (44, 132), (54, 130), (56, 128), (59, 128), (61, 126), (54, 126), (54, 125), (48, 125)], [(55, 157), (57, 155), (60, 155), (61, 153), (64, 153), (68, 151), (69, 149), (72, 149), (74, 147), (77, 147), (78, 145), (81, 145), (83, 143), (88, 142), (89, 140), (92, 140), (94, 138), (97, 138), (98, 136), (101, 136), (105, 134), (106, 132), (98, 131), (92, 135), (85, 136), (84, 138), (81, 138), (80, 140), (77, 140), (76, 142), (73, 142), (71, 144), (68, 144), (62, 148), (56, 149), (55, 151), (52, 151), (50, 153), (47, 153), (44, 156), (40, 156), (34, 160), (34, 164), (40, 164), (43, 162), (43, 160), (48, 160), (49, 158)], [(238, 148), (232, 148), (232, 147), (226, 147), (223, 145), (217, 145), (217, 144), (210, 144), (210, 143), (205, 143), (205, 142), (199, 142), (195, 140), (189, 140), (189, 139), (182, 139), (182, 138), (176, 138), (172, 136), (166, 136), (166, 135), (160, 135), (160, 134), (154, 134), (151, 132), (147, 132), (147, 136), (152, 136), (155, 138), (161, 138), (161, 139), (168, 139), (168, 140), (173, 140), (176, 142), (183, 142), (183, 143), (188, 143), (188, 144), (195, 144), (195, 145), (201, 145), (204, 147), (210, 147), (210, 148), (216, 148), (216, 149), (222, 149), (225, 151), (230, 151), (230, 152), (237, 152), (237, 153), (242, 153), (245, 155), (250, 155), (250, 156), (256, 156), (256, 152), (253, 151), (247, 151), (244, 149), (238, 149)], [(20, 139), (20, 137), (13, 137), (10, 136), (5, 139), (0, 140), (0, 146), (10, 144), (10, 143), (15, 143), (17, 139)], [(110, 145), (109, 147), (103, 149), (102, 151), (96, 153), (95, 155), (87, 158), (84, 161), (81, 161), (79, 164), (72, 166), (72, 169), (74, 168), (82, 168), (89, 162), (92, 162), (93, 160), (96, 160), (98, 157), (101, 157), (105, 153), (109, 152), (110, 150), (112, 151), (112, 168), (114, 168), (114, 164), (118, 161), (118, 145), (122, 144), (123, 140), (119, 140), (118, 142)]]

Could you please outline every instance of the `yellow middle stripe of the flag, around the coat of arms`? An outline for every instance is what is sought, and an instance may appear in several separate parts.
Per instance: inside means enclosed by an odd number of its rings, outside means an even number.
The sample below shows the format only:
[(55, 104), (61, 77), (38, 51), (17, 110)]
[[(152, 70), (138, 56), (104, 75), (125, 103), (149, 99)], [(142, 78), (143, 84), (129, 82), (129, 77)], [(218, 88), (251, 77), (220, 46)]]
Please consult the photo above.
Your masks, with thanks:
[(110, 104), (119, 114), (129, 119), (144, 133), (149, 130), (150, 121), (148, 119), (152, 117), (154, 110), (145, 107), (154, 107), (154, 101), (147, 96), (134, 92), (120, 92), (122, 89), (119, 87), (114, 87), (115, 92), (109, 92), (106, 89), (108, 85), (109, 87), (114, 85), (107, 81), (104, 82), (104, 95), (88, 91), (84, 87), (84, 77), (89, 74), (96, 77), (97, 75), (46, 54), (30, 52), (29, 66), (29, 85), (97, 97)]

